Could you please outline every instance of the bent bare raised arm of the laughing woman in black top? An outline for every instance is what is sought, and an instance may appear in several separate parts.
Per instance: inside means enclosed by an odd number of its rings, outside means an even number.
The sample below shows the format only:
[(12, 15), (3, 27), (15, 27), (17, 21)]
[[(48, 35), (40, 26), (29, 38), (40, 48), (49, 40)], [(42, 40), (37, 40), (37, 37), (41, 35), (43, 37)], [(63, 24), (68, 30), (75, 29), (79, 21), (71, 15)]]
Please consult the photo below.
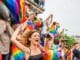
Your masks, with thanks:
[(29, 49), (16, 40), (16, 37), (17, 37), (20, 29), (21, 29), (21, 26), (19, 26), (19, 27), (16, 29), (16, 31), (13, 33), (13, 35), (12, 35), (12, 37), (11, 37), (11, 41), (12, 41), (19, 49), (21, 49), (23, 52), (27, 52), (27, 53), (28, 53), (28, 52), (29, 52), (29, 51), (28, 51)]

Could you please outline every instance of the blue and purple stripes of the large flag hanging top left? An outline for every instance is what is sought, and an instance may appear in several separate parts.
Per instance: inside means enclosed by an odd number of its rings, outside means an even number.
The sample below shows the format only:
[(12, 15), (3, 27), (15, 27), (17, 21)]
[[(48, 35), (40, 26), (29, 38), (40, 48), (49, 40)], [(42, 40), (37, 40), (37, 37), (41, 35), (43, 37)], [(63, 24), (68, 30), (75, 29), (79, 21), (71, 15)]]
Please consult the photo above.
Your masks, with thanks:
[(19, 23), (19, 15), (20, 15), (20, 6), (19, 0), (2, 0), (2, 2), (7, 6), (10, 10), (14, 20), (16, 23)]

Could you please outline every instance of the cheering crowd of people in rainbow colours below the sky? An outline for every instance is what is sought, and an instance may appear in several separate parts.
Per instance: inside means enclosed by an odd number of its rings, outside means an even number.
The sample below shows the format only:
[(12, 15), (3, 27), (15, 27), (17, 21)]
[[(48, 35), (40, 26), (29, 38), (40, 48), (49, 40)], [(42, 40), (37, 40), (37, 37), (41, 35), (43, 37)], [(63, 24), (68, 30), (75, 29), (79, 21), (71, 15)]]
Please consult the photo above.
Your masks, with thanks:
[(21, 24), (4, 18), (0, 17), (0, 60), (80, 60), (79, 43), (67, 47), (62, 37), (56, 38), (59, 23), (52, 22), (52, 14), (43, 20), (28, 13)]

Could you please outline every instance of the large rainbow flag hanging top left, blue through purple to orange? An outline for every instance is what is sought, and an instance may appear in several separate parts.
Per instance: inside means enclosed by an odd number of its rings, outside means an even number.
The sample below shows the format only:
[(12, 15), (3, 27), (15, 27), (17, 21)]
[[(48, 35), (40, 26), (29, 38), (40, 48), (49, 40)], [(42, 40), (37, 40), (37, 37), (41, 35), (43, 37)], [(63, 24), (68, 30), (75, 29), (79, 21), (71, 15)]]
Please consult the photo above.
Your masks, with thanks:
[(26, 21), (24, 0), (1, 0), (10, 10), (15, 23)]

